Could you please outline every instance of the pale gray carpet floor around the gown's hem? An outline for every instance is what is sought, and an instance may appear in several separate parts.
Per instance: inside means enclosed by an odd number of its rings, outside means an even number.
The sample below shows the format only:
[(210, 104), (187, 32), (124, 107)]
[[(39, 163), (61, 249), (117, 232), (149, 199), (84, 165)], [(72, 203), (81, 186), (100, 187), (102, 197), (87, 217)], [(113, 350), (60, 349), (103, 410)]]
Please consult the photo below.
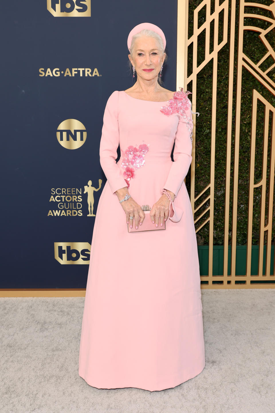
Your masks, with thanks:
[(1, 413), (275, 413), (275, 290), (202, 290), (206, 365), (173, 389), (78, 375), (84, 298), (0, 298)]

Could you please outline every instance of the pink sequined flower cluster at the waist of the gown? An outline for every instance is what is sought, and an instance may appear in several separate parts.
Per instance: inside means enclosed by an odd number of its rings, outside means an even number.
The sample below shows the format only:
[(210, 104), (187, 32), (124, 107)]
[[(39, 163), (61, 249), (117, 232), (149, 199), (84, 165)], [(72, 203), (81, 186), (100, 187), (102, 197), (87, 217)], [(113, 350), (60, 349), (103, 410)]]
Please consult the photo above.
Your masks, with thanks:
[[(132, 146), (129, 145), (127, 147), (127, 149), (125, 151), (121, 150), (121, 154), (122, 154), (122, 163), (121, 166), (122, 168), (125, 169), (125, 171), (123, 172), (123, 176), (125, 176), (125, 182), (127, 183), (127, 187), (129, 188), (130, 186), (130, 179), (134, 178), (135, 176), (135, 170), (137, 170), (138, 168), (141, 168), (144, 163), (144, 157), (146, 155), (146, 153), (149, 150), (149, 145), (146, 145), (145, 143), (141, 143), (141, 145), (139, 145), (139, 147), (136, 146)], [(132, 168), (132, 166), (134, 168)]]

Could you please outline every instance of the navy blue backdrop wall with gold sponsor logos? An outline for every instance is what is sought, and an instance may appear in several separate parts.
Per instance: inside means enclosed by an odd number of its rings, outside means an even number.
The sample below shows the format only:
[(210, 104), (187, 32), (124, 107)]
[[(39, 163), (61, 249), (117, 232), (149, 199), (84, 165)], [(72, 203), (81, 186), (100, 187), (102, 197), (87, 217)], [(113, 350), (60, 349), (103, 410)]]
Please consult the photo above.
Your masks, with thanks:
[(127, 37), (146, 21), (165, 33), (176, 90), (176, 0), (2, 2), (0, 288), (86, 287), (103, 113), (135, 81)]

